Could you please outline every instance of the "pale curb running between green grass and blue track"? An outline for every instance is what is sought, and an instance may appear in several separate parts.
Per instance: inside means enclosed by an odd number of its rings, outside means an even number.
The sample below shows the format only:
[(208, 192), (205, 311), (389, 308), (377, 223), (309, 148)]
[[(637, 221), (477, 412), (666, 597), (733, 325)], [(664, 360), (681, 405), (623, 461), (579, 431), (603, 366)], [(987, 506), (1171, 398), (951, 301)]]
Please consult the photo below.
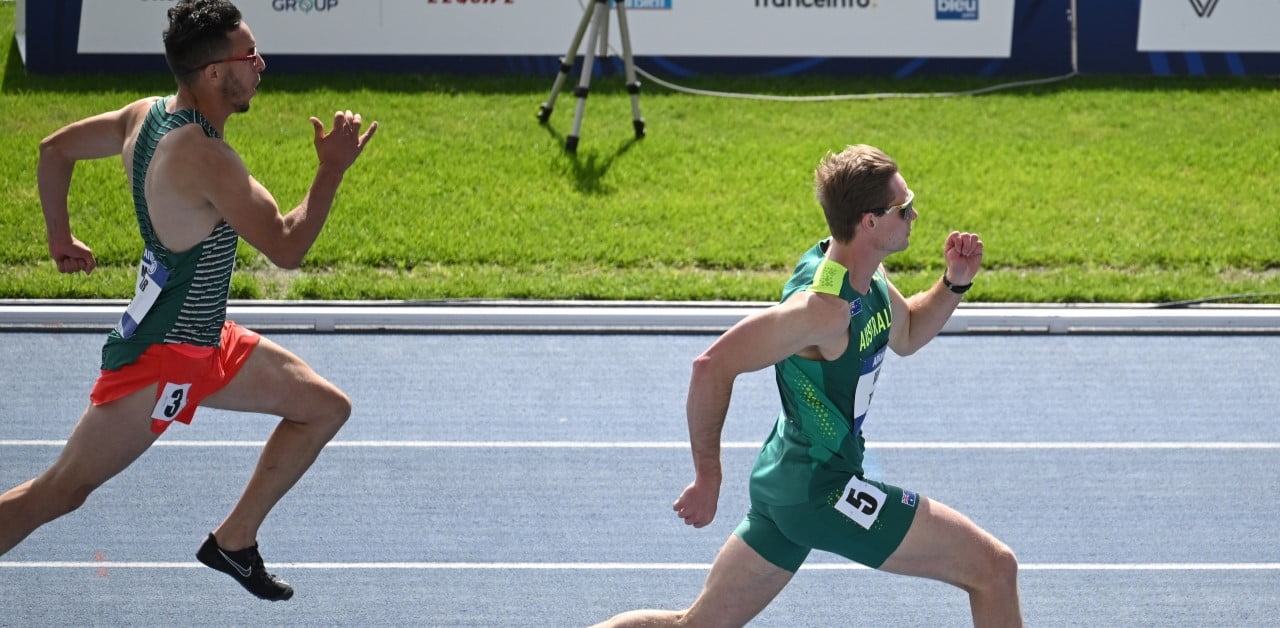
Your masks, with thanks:
[[(0, 330), (106, 331), (124, 301), (0, 301)], [(769, 303), (233, 301), (251, 329), (319, 333), (718, 334)], [(943, 334), (1280, 334), (1280, 306), (961, 304)]]

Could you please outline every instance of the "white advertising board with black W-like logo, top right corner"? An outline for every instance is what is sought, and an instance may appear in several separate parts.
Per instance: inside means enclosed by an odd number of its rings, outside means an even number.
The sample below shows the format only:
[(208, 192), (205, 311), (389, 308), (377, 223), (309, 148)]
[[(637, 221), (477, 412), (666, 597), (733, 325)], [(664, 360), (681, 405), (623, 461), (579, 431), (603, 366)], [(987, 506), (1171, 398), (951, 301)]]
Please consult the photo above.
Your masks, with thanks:
[(1143, 0), (1142, 52), (1280, 52), (1280, 0)]

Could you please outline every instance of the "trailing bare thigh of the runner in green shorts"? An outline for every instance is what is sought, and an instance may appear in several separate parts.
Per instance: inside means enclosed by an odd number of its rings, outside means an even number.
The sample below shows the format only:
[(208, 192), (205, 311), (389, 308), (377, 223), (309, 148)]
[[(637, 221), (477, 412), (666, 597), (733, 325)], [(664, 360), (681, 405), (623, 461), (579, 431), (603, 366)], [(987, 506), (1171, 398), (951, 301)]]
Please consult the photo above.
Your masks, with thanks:
[(691, 627), (745, 625), (791, 582), (791, 572), (774, 565), (730, 535), (707, 574), (703, 592), (689, 608)]

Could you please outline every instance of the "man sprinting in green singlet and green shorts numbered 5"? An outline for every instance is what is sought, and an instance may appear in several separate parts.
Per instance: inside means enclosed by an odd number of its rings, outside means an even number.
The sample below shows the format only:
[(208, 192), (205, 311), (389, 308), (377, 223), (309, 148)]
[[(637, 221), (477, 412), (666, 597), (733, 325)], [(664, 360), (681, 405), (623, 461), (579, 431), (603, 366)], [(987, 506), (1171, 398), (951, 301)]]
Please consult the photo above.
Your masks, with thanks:
[(733, 380), (774, 366), (782, 412), (751, 472), (750, 512), (692, 606), (625, 613), (602, 625), (746, 624), (813, 549), (955, 585), (969, 593), (974, 625), (1021, 625), (1014, 553), (951, 508), (864, 477), (861, 464), (884, 348), (909, 356), (937, 335), (978, 272), (982, 240), (951, 233), (942, 279), (905, 299), (881, 265), (908, 247), (919, 217), (897, 164), (851, 146), (828, 155), (814, 179), (831, 238), (800, 258), (781, 303), (733, 325), (694, 361), (689, 385), (694, 482), (675, 510), (703, 527), (719, 499)]

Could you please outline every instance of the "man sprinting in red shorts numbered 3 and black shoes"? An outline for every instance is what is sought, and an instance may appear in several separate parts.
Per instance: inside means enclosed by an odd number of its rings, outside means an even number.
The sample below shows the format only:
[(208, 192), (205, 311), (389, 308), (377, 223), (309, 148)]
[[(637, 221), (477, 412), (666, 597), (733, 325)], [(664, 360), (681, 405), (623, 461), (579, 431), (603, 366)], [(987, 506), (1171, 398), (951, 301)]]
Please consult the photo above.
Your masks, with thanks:
[(40, 201), (58, 270), (88, 274), (96, 265), (68, 216), (79, 160), (122, 156), (143, 249), (133, 301), (106, 338), (102, 375), (61, 455), (0, 495), (0, 554), (83, 504), (173, 421), (189, 423), (197, 405), (275, 414), (284, 418), (244, 494), (196, 556), (259, 597), (288, 600), (293, 588), (262, 567), (257, 530), (347, 421), (351, 400), (298, 357), (227, 320), (236, 246), (244, 238), (275, 265), (297, 267), (378, 123), (360, 134), (360, 114), (338, 111), (325, 134), (312, 118), (315, 180), (282, 216), (221, 139), (227, 118), (248, 111), (266, 68), (239, 10), (225, 0), (178, 3), (164, 43), (177, 95), (86, 118), (40, 145)]

